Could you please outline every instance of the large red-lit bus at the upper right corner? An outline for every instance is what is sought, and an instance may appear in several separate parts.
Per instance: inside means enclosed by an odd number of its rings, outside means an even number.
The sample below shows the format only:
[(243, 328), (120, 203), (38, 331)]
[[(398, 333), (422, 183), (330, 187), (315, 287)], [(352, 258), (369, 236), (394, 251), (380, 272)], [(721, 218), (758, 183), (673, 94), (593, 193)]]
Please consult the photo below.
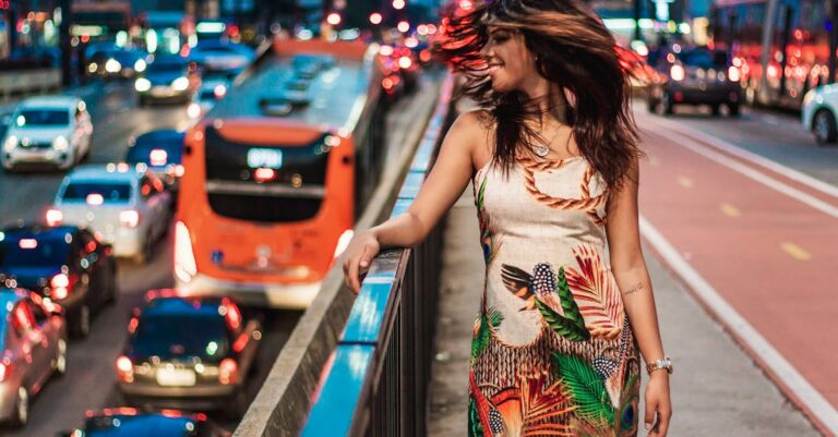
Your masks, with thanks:
[(731, 52), (749, 104), (800, 109), (807, 90), (834, 81), (838, 11), (829, 3), (716, 0), (709, 45)]

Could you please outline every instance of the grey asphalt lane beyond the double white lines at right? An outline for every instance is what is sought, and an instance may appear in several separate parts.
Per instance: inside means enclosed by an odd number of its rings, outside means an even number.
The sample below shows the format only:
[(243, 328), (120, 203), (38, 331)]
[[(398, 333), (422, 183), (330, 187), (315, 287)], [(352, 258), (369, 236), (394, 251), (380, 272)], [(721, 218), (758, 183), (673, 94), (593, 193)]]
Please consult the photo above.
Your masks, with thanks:
[(799, 117), (744, 106), (739, 118), (727, 117), (725, 111), (714, 117), (707, 107), (686, 106), (675, 107), (674, 114), (663, 117), (650, 114), (641, 100), (635, 100), (633, 109), (638, 117), (679, 123), (838, 185), (838, 147), (815, 143)]

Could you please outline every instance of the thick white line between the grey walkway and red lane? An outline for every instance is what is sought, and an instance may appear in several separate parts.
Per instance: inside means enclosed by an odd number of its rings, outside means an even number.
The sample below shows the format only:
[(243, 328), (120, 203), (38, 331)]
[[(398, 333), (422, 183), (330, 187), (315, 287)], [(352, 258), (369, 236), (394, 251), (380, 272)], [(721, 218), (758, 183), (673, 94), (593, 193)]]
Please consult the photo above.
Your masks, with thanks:
[(669, 266), (695, 292), (695, 295), (759, 357), (789, 391), (833, 434), (838, 435), (838, 411), (801, 373), (775, 349), (719, 292), (694, 269), (674, 246), (644, 217), (641, 233), (666, 259)]

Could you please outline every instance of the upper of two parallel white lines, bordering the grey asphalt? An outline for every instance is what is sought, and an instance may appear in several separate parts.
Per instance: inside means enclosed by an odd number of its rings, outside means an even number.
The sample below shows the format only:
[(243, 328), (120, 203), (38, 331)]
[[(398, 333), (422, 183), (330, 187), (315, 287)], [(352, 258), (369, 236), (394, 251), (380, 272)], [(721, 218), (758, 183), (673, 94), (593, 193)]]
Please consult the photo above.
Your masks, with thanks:
[(708, 135), (704, 132), (699, 132), (695, 129), (687, 128), (678, 123), (673, 123), (667, 120), (654, 120), (654, 122), (658, 122), (660, 124), (663, 124), (666, 128), (669, 128), (673, 131), (678, 131), (679, 133), (683, 135), (690, 135), (696, 139), (703, 141), (713, 147), (717, 147), (721, 150), (725, 150), (728, 154), (731, 154), (738, 158), (746, 159), (757, 166), (765, 167), (766, 169), (774, 171), (776, 173), (782, 174), (786, 178), (791, 179), (792, 181), (799, 182), (803, 185), (806, 185), (813, 190), (817, 190), (824, 194), (828, 194), (833, 197), (838, 198), (838, 186), (835, 186), (830, 183), (824, 182), (819, 179), (813, 178), (809, 174), (802, 173), (798, 170), (794, 170), (790, 167), (783, 166), (779, 162), (773, 161), (768, 158), (765, 158), (763, 156), (759, 156), (757, 154), (754, 154), (753, 151), (749, 151), (743, 149), (742, 147), (739, 147), (732, 143), (729, 143), (725, 139), (717, 138), (713, 135)]

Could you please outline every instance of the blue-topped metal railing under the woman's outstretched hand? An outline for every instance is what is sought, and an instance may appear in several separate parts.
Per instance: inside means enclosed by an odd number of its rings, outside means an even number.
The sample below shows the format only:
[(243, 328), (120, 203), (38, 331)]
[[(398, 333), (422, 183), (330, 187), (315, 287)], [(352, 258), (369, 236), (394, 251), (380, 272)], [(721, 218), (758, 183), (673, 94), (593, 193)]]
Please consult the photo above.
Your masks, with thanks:
[[(448, 77), (391, 217), (407, 210), (430, 170), (452, 88)], [(417, 247), (384, 251), (372, 262), (303, 437), (426, 435), (441, 238), (438, 226)]]

